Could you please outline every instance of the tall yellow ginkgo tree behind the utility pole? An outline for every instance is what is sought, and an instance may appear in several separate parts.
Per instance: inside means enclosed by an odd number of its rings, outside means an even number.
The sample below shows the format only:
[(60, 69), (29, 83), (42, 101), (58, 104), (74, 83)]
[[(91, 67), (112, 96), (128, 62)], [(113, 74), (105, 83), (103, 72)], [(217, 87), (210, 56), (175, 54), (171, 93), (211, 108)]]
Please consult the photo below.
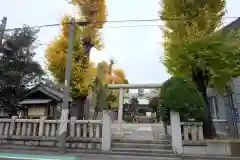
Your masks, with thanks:
[[(106, 5), (104, 0), (70, 0), (79, 11), (79, 19), (75, 21), (87, 21), (88, 25), (75, 25), (75, 38), (72, 61), (71, 93), (77, 103), (76, 114), (83, 113), (84, 101), (88, 94), (88, 85), (91, 81), (92, 65), (89, 64), (90, 51), (93, 47), (102, 48), (100, 29), (106, 21)], [(65, 60), (67, 53), (67, 41), (69, 35), (69, 16), (62, 20), (62, 31), (47, 48), (47, 67), (54, 78), (63, 83)], [(90, 78), (90, 79), (89, 79)], [(82, 118), (76, 115), (77, 118)]]

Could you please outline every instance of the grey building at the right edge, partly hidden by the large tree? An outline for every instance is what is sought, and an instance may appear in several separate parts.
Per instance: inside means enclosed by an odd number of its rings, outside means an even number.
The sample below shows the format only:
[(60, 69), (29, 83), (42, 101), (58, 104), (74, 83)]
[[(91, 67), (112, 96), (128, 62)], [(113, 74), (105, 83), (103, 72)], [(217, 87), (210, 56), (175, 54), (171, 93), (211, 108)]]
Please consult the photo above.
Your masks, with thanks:
[[(225, 26), (222, 30), (225, 34), (229, 33), (231, 30), (240, 29), (240, 18), (231, 22), (229, 25)], [(232, 115), (236, 117), (238, 131), (240, 133), (240, 120), (239, 120), (239, 110), (240, 110), (240, 77), (232, 78), (232, 100), (234, 108), (230, 108), (230, 97), (227, 94), (220, 95), (216, 90), (212, 88), (207, 89), (207, 94), (209, 97), (209, 104), (211, 109), (211, 114), (215, 128), (218, 133), (223, 134), (233, 134), (234, 127), (232, 123)], [(232, 114), (233, 113), (233, 114)]]

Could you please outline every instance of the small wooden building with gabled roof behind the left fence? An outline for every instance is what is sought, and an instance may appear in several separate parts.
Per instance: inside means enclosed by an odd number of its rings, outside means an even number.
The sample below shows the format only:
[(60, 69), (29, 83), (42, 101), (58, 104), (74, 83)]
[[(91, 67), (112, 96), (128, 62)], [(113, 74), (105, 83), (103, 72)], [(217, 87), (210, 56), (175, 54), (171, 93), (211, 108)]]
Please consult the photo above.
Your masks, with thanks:
[[(72, 99), (69, 99), (71, 104)], [(19, 104), (19, 117), (39, 119), (59, 119), (61, 116), (61, 105), (63, 102), (63, 91), (50, 85), (39, 84), (27, 91)], [(70, 106), (70, 105), (69, 105)], [(69, 107), (70, 109), (70, 107)]]

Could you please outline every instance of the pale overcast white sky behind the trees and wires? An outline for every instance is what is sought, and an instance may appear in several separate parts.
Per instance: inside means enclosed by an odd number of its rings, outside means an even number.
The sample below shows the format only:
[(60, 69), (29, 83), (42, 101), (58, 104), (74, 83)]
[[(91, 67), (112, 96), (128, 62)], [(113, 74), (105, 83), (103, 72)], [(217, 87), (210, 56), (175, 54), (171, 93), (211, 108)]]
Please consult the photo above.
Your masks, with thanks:
[[(157, 19), (159, 0), (106, 0), (108, 20)], [(227, 0), (227, 17), (238, 17), (240, 0)], [(7, 28), (59, 23), (61, 17), (75, 14), (66, 0), (2, 0), (0, 18), (8, 18)], [(224, 24), (234, 18), (225, 18)], [(160, 60), (163, 56), (161, 22), (108, 23), (102, 30), (105, 48), (92, 50), (95, 62), (115, 59), (125, 70), (130, 83), (162, 83), (169, 78)], [(139, 26), (140, 25), (140, 26)], [(147, 26), (146, 26), (147, 25)], [(156, 25), (156, 26), (154, 26)], [(133, 26), (133, 27), (126, 27)], [(39, 43), (48, 44), (59, 34), (59, 27), (41, 29)], [(36, 60), (44, 66), (44, 50), (40, 46)]]

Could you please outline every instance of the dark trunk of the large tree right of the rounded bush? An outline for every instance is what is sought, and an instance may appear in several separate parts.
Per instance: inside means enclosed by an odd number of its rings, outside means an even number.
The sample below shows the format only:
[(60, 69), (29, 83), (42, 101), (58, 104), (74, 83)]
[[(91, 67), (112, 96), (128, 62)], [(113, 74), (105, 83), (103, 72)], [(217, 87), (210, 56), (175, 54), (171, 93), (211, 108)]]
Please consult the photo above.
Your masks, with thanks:
[(193, 72), (193, 81), (196, 84), (198, 91), (202, 94), (204, 102), (207, 106), (206, 119), (203, 121), (204, 138), (213, 139), (217, 134), (213, 125), (210, 105), (207, 97), (208, 77), (204, 76), (203, 71), (198, 69), (196, 72)]

